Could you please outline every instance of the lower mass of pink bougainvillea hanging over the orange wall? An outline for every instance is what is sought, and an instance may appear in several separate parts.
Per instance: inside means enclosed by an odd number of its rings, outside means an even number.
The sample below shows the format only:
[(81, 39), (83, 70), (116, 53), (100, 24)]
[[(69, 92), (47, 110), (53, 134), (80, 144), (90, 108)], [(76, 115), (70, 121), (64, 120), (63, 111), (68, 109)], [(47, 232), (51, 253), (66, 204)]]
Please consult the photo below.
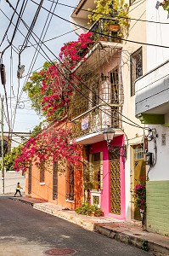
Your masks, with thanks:
[(32, 161), (38, 167), (58, 160), (66, 160), (75, 165), (80, 160), (80, 152), (70, 137), (70, 129), (58, 128), (57, 125), (42, 131), (37, 137), (31, 137), (15, 160), (15, 171), (25, 172)]

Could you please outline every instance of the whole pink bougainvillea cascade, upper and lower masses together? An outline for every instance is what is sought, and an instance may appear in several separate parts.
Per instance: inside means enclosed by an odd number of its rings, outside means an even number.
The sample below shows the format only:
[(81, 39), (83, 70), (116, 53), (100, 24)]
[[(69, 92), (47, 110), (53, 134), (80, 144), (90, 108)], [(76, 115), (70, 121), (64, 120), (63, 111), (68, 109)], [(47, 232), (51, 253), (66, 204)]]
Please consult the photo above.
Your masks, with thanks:
[(70, 143), (70, 129), (59, 127), (63, 120), (66, 122), (71, 98), (79, 82), (71, 70), (93, 45), (91, 37), (92, 33), (87, 32), (77, 41), (65, 44), (60, 49), (60, 62), (45, 63), (42, 70), (33, 73), (29, 83), (25, 84), (32, 107), (42, 113), (49, 123), (54, 122), (54, 125), (25, 143), (20, 156), (15, 160), (16, 171), (25, 172), (32, 161), (40, 167), (51, 163), (51, 160), (66, 160), (73, 165), (80, 160), (77, 146)]

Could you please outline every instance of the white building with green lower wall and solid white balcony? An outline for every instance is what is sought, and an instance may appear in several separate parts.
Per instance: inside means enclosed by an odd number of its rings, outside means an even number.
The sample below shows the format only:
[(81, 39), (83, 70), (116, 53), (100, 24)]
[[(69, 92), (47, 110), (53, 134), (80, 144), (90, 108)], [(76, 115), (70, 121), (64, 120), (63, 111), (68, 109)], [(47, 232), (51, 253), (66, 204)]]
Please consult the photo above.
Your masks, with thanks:
[[(168, 2), (167, 2), (168, 3)], [(149, 125), (147, 228), (169, 235), (169, 37), (167, 11), (147, 1), (147, 71), (136, 81), (136, 116)], [(155, 23), (156, 22), (156, 23)]]

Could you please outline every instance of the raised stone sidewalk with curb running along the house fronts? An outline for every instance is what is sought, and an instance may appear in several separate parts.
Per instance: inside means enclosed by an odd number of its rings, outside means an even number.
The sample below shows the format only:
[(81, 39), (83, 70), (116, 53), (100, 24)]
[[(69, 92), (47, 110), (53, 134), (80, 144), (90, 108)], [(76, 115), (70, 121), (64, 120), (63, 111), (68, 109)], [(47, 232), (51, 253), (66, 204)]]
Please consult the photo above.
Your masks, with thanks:
[(84, 229), (99, 232), (117, 241), (132, 244), (144, 250), (149, 249), (149, 253), (155, 256), (169, 256), (169, 237), (144, 231), (138, 224), (131, 224), (112, 218), (78, 215), (75, 211), (64, 209), (53, 203), (25, 196), (11, 197), (11, 199), (30, 204), (39, 211), (64, 218), (82, 226)]

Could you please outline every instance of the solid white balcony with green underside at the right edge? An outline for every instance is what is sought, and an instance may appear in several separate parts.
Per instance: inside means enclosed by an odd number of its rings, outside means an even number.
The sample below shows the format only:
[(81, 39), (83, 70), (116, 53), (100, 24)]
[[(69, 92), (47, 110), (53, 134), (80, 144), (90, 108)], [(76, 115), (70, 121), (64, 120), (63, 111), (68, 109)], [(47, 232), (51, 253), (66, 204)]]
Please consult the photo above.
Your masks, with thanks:
[(166, 123), (166, 114), (169, 113), (168, 70), (169, 61), (166, 61), (136, 80), (136, 116), (144, 124)]

